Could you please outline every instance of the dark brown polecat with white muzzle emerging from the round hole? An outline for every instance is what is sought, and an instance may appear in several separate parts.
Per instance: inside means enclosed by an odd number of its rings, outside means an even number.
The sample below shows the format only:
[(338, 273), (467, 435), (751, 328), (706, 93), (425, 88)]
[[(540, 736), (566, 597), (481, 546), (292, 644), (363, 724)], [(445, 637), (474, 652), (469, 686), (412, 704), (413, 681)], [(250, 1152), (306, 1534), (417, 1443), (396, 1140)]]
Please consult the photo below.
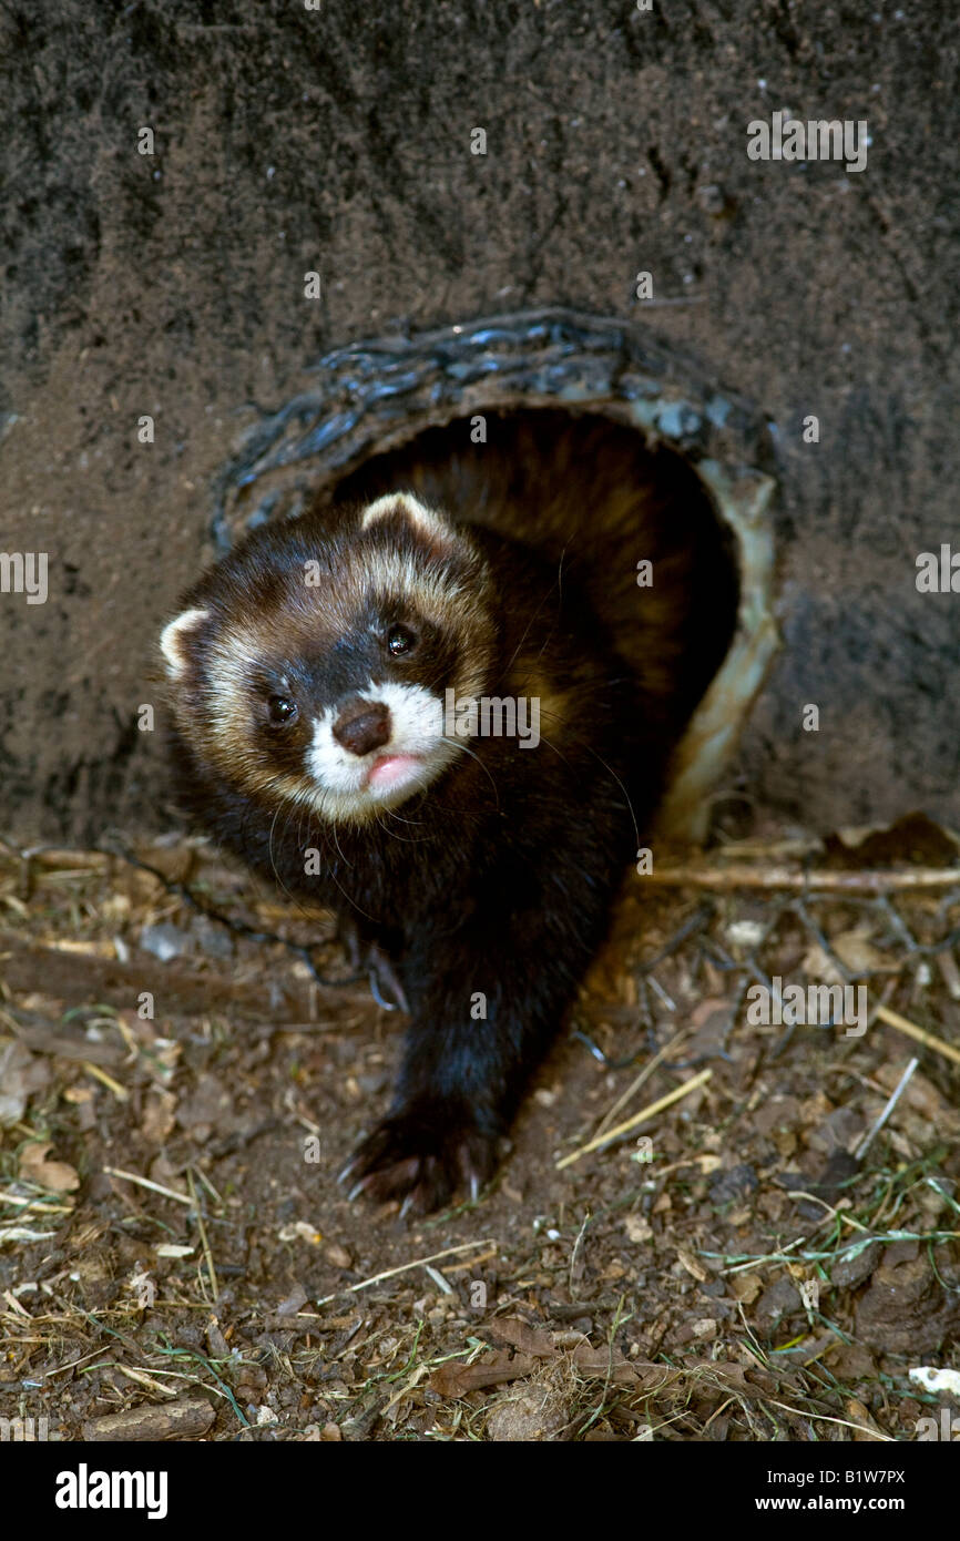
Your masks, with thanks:
[[(468, 519), (464, 478), (441, 490)], [(482, 527), (405, 490), (256, 530), (162, 635), (186, 806), (393, 965), (405, 1054), (348, 1171), (405, 1210), (492, 1176), (706, 683), (690, 535), (664, 546), (649, 488), (621, 501), (619, 652), (567, 572), (576, 553), (488, 527), (509, 499)]]

